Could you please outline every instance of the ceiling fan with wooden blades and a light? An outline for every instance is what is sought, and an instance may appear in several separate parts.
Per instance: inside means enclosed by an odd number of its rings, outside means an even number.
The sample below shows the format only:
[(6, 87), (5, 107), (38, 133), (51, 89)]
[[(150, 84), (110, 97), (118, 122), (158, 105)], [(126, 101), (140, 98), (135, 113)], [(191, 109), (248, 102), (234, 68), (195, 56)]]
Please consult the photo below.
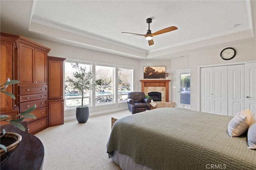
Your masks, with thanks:
[(148, 45), (153, 45), (154, 44), (154, 41), (152, 39), (153, 36), (159, 35), (159, 34), (162, 34), (162, 33), (168, 33), (170, 31), (174, 31), (174, 30), (178, 29), (175, 26), (171, 26), (171, 27), (167, 27), (167, 28), (161, 29), (159, 31), (156, 31), (155, 33), (151, 33), (151, 30), (149, 29), (149, 24), (151, 22), (152, 22), (151, 18), (148, 18), (146, 20), (146, 23), (148, 23), (148, 31), (147, 31), (146, 34), (136, 34), (136, 33), (127, 33), (127, 32), (121, 32), (121, 33), (129, 34), (129, 35), (141, 35), (141, 36), (144, 36), (144, 37), (146, 37), (146, 40), (148, 40)]

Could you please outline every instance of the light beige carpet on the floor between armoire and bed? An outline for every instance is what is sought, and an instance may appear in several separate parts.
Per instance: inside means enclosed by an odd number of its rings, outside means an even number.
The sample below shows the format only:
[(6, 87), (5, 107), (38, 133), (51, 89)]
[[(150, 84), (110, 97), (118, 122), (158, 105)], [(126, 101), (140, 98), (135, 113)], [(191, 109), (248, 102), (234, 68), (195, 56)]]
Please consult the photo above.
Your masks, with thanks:
[(120, 170), (106, 153), (111, 117), (131, 114), (123, 110), (91, 116), (86, 123), (65, 121), (37, 133), (44, 145), (43, 170)]

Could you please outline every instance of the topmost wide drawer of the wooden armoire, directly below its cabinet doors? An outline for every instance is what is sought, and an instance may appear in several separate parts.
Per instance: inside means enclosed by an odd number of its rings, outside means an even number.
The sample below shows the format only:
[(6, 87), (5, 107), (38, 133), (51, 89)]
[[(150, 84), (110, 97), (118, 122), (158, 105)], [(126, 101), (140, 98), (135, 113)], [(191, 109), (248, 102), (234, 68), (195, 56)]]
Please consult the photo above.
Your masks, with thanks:
[(45, 85), (20, 85), (20, 95), (47, 93)]

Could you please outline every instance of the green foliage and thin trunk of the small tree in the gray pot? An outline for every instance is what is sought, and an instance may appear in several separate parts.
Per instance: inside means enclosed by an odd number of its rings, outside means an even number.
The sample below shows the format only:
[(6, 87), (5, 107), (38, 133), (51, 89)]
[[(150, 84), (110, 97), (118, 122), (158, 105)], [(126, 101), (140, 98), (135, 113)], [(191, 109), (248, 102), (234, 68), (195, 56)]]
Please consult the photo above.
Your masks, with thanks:
[(86, 90), (92, 90), (96, 86), (96, 84), (92, 82), (93, 74), (92, 71), (86, 70), (86, 66), (79, 66), (78, 62), (75, 64), (71, 63), (71, 65), (73, 68), (76, 68), (77, 71), (73, 73), (74, 78), (67, 77), (66, 81), (69, 82), (78, 93), (82, 94), (82, 106), (84, 106), (84, 93)]

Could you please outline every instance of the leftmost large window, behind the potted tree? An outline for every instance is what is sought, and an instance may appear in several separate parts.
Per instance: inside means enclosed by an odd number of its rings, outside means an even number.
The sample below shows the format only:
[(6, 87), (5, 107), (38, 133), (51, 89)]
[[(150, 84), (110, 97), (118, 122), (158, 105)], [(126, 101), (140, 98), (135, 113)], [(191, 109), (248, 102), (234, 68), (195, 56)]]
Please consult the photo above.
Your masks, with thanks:
[[(65, 109), (75, 108), (76, 106), (80, 106), (82, 102), (82, 94), (78, 94), (78, 92), (73, 89), (69, 83), (66, 81), (66, 78), (69, 76), (73, 77), (73, 72), (76, 71), (75, 68), (72, 68), (71, 63), (76, 63), (76, 61), (66, 61), (65, 62)], [(80, 66), (86, 66), (87, 70), (92, 70), (92, 63), (86, 62), (78, 62)], [(92, 92), (88, 90), (86, 94), (84, 94), (83, 104), (87, 106), (92, 106)]]

